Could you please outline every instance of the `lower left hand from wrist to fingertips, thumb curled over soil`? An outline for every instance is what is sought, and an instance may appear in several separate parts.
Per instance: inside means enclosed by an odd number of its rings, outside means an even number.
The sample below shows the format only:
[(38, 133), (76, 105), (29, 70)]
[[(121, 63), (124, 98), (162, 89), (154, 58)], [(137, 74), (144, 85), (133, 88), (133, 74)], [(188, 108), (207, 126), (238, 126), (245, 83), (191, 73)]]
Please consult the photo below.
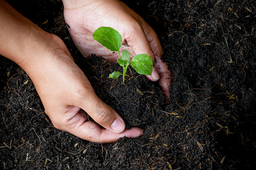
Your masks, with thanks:
[(102, 143), (141, 135), (139, 128), (125, 130), (119, 114), (97, 97), (59, 37), (51, 35), (48, 44), (47, 51), (26, 71), (57, 129)]

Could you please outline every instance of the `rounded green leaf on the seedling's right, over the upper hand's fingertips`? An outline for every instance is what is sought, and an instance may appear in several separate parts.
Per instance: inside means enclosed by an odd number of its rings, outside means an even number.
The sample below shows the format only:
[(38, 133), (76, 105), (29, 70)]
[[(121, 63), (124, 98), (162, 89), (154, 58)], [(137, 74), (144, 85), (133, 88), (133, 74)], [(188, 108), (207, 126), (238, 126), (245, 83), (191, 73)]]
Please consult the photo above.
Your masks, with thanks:
[(131, 60), (131, 66), (137, 71), (139, 74), (151, 75), (153, 62), (150, 56), (147, 54), (138, 54)]

